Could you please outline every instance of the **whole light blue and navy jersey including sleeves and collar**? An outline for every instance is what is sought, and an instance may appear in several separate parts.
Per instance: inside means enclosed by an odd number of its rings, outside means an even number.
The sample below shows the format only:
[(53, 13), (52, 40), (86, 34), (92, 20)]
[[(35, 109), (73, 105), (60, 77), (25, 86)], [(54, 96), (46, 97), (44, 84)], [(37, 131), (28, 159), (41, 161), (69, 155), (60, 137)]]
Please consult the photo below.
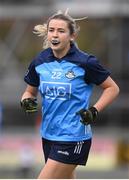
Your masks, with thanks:
[(95, 57), (74, 45), (61, 59), (54, 57), (50, 48), (41, 52), (25, 76), (42, 96), (41, 136), (54, 141), (90, 139), (91, 127), (80, 122), (77, 112), (89, 107), (93, 84), (102, 83), (108, 76)]

